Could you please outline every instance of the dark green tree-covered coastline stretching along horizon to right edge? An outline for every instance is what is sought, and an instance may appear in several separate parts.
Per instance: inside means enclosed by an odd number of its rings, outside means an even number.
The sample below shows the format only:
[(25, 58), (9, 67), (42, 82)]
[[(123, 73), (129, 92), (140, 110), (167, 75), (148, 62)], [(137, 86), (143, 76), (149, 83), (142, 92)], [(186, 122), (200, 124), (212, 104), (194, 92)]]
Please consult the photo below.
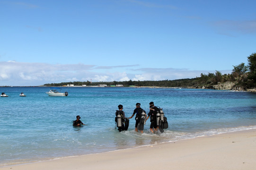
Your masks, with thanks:
[(66, 86), (66, 85), (107, 85), (107, 86), (158, 86), (158, 87), (190, 87), (190, 88), (210, 88), (221, 89), (216, 85), (229, 84), (231, 86), (222, 89), (240, 89), (247, 90), (256, 88), (256, 53), (247, 57), (248, 65), (241, 63), (233, 66), (231, 74), (223, 74), (216, 70), (215, 73), (203, 74), (195, 78), (185, 78), (177, 80), (160, 80), (160, 81), (113, 81), (113, 82), (63, 82), (44, 84), (45, 86)]

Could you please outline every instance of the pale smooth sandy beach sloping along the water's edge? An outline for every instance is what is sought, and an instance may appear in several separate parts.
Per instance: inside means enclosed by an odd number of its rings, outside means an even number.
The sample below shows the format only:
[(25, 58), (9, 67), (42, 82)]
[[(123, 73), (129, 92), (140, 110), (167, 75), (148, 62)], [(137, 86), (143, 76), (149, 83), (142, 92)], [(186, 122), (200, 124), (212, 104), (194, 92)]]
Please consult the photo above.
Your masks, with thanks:
[(255, 170), (256, 129), (0, 169)]

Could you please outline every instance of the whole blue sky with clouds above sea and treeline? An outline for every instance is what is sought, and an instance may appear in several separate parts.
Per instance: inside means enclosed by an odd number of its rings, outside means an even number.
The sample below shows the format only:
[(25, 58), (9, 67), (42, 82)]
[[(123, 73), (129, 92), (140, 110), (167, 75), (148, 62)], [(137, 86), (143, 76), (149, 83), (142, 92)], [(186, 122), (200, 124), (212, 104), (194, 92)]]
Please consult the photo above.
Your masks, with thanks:
[(175, 80), (256, 52), (256, 0), (0, 0), (0, 85)]

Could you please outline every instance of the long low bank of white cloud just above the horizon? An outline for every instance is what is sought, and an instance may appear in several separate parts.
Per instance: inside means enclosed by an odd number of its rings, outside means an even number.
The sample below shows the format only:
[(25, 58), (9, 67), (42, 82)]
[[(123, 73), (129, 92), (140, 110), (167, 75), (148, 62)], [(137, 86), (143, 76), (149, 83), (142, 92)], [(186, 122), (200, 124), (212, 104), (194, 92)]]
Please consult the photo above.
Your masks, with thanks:
[[(174, 80), (194, 78), (201, 73), (215, 73), (214, 71), (199, 71), (174, 68), (134, 68), (134, 65), (116, 66), (112, 68), (84, 64), (46, 64), (24, 62), (0, 62), (0, 85), (44, 85), (47, 83), (61, 83), (73, 81), (144, 81), (144, 80)], [(139, 66), (137, 66), (139, 67)], [(97, 70), (97, 71), (96, 71)], [(112, 72), (111, 72), (112, 71)], [(220, 70), (221, 71), (221, 70)], [(140, 74), (138, 74), (140, 73)], [(221, 71), (222, 74), (231, 70)]]

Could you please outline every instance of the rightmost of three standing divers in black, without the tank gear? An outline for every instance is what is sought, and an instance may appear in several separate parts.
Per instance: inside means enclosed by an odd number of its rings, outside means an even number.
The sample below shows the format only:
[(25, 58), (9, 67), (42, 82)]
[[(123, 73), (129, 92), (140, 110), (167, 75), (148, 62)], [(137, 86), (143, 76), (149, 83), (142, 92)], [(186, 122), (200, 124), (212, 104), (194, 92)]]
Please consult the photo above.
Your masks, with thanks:
[[(150, 112), (148, 113), (148, 117), (147, 119), (150, 118), (150, 131), (152, 133), (154, 133), (153, 128), (155, 131), (157, 131), (157, 129), (159, 128), (159, 126), (157, 126), (157, 112), (160, 111), (159, 108), (157, 108), (154, 105), (154, 102), (150, 102)], [(146, 119), (146, 121), (147, 121)]]

